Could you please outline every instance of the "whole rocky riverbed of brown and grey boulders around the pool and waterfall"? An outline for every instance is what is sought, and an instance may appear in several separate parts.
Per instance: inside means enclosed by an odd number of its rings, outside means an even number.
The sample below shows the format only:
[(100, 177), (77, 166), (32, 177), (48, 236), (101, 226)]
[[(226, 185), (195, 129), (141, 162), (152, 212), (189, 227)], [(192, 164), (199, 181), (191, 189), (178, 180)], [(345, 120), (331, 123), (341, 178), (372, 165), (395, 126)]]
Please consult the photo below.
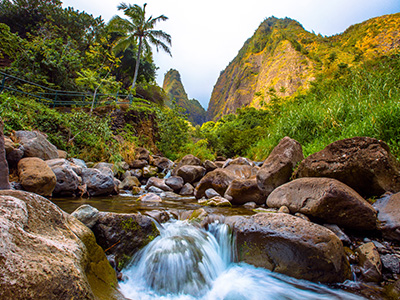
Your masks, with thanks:
[[(175, 218), (228, 224), (238, 260), (256, 267), (346, 282), (370, 299), (400, 296), (400, 165), (382, 141), (355, 137), (304, 158), (286, 137), (264, 162), (193, 155), (172, 162), (139, 148), (135, 160), (113, 165), (68, 158), (43, 134), (16, 132), (5, 138), (5, 153), (18, 176), (0, 195), (4, 295), (39, 297), (35, 287), (51, 281), (49, 295), (123, 297), (115, 276), (157, 237), (153, 220)], [(51, 267), (64, 256), (70, 263)], [(60, 274), (76, 288), (63, 289)]]

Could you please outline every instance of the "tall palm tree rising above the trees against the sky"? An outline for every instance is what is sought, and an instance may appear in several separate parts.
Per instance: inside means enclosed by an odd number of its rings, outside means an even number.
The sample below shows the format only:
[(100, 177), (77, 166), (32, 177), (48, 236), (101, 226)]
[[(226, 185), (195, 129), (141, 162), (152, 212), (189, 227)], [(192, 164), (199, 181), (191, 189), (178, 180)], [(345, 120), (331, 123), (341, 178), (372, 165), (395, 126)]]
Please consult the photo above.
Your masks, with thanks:
[[(123, 19), (119, 16), (114, 16), (110, 20), (110, 26), (123, 34), (114, 46), (115, 52), (125, 51), (130, 46), (138, 45), (135, 73), (133, 75), (133, 82), (131, 91), (135, 88), (136, 79), (139, 73), (140, 55), (142, 48), (146, 53), (151, 53), (150, 44), (156, 46), (157, 52), (159, 48), (171, 55), (171, 36), (164, 31), (154, 30), (154, 26), (159, 21), (166, 21), (168, 18), (161, 15), (157, 18), (150, 16), (146, 19), (146, 3), (143, 8), (137, 4), (131, 5), (120, 3), (118, 10), (124, 11), (125, 16), (129, 18)], [(172, 55), (171, 55), (172, 56)]]

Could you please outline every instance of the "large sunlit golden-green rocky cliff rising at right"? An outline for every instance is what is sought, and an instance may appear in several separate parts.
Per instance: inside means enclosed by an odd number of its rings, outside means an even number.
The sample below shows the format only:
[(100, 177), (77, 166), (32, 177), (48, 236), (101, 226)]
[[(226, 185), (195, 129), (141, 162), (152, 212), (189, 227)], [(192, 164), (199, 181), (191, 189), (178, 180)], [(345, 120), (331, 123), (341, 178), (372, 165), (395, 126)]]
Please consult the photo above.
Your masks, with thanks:
[(308, 89), (320, 74), (340, 76), (346, 68), (398, 51), (400, 13), (353, 25), (323, 37), (289, 18), (268, 18), (221, 72), (209, 102), (208, 120), (242, 106), (271, 105)]

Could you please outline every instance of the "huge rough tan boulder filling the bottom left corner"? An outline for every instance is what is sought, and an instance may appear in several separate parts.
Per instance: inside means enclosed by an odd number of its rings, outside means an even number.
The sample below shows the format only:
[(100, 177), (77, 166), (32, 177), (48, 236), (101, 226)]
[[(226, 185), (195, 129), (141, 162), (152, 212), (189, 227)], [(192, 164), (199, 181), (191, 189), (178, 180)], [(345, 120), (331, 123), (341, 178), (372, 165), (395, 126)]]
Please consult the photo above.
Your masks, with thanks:
[(124, 299), (93, 233), (49, 200), (0, 191), (1, 299)]

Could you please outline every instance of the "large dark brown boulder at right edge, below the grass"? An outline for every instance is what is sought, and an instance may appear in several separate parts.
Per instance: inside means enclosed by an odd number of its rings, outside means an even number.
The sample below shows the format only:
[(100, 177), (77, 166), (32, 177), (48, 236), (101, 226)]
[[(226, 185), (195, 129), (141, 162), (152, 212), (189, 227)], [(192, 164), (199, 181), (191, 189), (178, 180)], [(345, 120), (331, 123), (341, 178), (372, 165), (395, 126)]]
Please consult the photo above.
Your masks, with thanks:
[(400, 191), (400, 164), (388, 145), (369, 137), (328, 145), (302, 161), (296, 177), (335, 178), (364, 197)]

